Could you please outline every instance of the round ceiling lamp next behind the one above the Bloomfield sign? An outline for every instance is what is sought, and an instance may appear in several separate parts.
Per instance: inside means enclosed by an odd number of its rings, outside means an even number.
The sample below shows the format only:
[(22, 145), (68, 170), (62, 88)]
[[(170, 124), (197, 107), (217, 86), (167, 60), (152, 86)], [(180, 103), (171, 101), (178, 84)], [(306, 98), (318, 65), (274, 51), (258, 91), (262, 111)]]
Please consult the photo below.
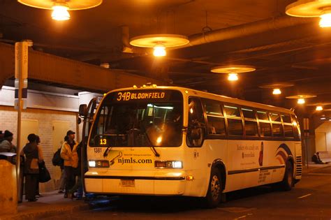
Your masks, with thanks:
[(256, 68), (253, 66), (246, 66), (246, 65), (236, 65), (236, 66), (215, 66), (210, 71), (212, 73), (226, 73), (228, 74), (229, 81), (238, 80), (237, 73), (248, 73), (255, 71)]

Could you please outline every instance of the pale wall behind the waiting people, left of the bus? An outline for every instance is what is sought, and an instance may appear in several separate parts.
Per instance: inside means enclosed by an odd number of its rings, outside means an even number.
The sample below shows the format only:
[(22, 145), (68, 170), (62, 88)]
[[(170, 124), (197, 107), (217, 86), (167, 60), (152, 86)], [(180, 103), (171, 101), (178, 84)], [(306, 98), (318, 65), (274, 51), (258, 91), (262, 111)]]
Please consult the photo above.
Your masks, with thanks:
[[(76, 132), (76, 139), (80, 141), (82, 124), (80, 126), (77, 124), (79, 104), (88, 104), (90, 99), (96, 96), (102, 95), (83, 92), (82, 96), (71, 96), (28, 90), (27, 109), (22, 111), (22, 121), (34, 122), (37, 127), (31, 128), (31, 131), (22, 131), (22, 133), (36, 133), (41, 137), (43, 156), (52, 176), (50, 182), (40, 185), (41, 192), (52, 191), (59, 185), (60, 168), (52, 165), (52, 156), (61, 146), (61, 142), (54, 140), (54, 129), (56, 130), (54, 124), (66, 124), (63, 133), (58, 134), (61, 140), (66, 135), (66, 129), (71, 129)], [(17, 138), (19, 138), (17, 137), (17, 110), (13, 106), (14, 88), (2, 87), (0, 90), (0, 130), (11, 131), (14, 134), (13, 144), (17, 145)], [(21, 146), (24, 146), (27, 137), (21, 139)]]

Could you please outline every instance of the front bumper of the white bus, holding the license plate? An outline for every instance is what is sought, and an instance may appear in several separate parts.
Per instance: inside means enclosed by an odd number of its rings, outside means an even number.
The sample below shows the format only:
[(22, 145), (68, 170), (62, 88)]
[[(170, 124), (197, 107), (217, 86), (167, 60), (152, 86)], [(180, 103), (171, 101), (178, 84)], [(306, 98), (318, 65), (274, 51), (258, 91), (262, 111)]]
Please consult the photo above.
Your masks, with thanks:
[(88, 193), (180, 196), (186, 189), (186, 172), (182, 170), (89, 171), (84, 175)]

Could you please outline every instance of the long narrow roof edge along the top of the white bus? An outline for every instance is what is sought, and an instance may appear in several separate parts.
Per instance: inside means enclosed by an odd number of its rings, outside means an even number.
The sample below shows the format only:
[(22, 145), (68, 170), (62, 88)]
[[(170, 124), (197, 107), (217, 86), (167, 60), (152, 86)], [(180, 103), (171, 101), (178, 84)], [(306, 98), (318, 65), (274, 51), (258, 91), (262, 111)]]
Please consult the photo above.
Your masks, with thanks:
[(246, 106), (250, 106), (253, 108), (260, 108), (263, 110), (270, 110), (270, 111), (279, 111), (279, 112), (286, 112), (288, 114), (294, 115), (294, 112), (287, 109), (287, 108), (281, 108), (281, 107), (277, 107), (277, 106), (273, 106), (273, 105), (265, 105), (262, 103), (256, 103), (253, 101), (246, 101), (246, 100), (242, 100), (239, 98), (231, 98), (228, 96), (221, 96), (218, 94), (212, 94), (209, 93), (207, 91), (200, 91), (200, 90), (196, 90), (196, 89), (189, 89), (189, 88), (185, 88), (185, 87), (174, 87), (174, 86), (156, 86), (156, 85), (151, 85), (151, 86), (146, 86), (146, 87), (126, 87), (126, 88), (122, 88), (122, 89), (114, 89), (112, 91), (110, 91), (109, 93), (112, 93), (114, 91), (128, 91), (128, 90), (149, 90), (149, 89), (173, 89), (173, 90), (179, 90), (182, 92), (182, 94), (187, 94), (187, 96), (198, 96), (201, 98), (210, 98), (210, 99), (214, 99), (214, 100), (218, 100), (218, 101), (223, 101), (223, 102), (228, 102), (228, 103), (234, 103), (237, 105), (246, 105)]

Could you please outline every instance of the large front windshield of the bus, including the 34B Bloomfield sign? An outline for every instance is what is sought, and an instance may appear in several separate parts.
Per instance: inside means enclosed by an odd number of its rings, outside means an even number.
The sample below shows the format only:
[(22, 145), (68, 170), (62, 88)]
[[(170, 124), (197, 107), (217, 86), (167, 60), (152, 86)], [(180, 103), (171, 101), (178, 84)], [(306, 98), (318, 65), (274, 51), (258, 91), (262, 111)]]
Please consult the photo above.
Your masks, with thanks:
[(106, 96), (91, 130), (91, 147), (178, 147), (183, 97), (174, 90), (118, 91)]

